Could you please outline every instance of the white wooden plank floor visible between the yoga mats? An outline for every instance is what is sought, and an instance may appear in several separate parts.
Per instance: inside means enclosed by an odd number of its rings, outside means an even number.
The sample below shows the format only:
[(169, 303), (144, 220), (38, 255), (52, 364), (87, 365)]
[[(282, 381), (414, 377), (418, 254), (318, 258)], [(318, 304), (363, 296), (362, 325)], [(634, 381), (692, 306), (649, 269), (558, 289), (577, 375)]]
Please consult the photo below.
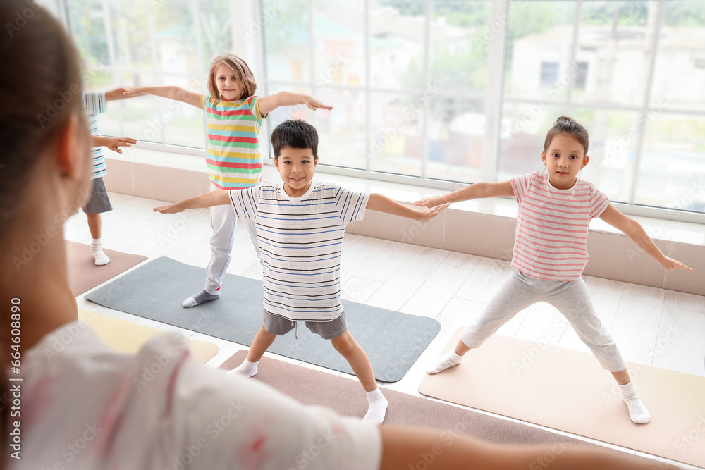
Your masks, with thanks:
[[(149, 259), (169, 256), (186, 264), (207, 266), (211, 234), (207, 209), (168, 216), (152, 212), (152, 207), (163, 204), (158, 201), (114, 193), (110, 198), (114, 211), (103, 215), (104, 247), (142, 254)], [(66, 239), (90, 244), (83, 214), (76, 214), (67, 221)], [(236, 247), (228, 272), (260, 279), (261, 268), (255, 250), (244, 232), (236, 235)], [(425, 373), (424, 364), (439, 354), (458, 327), (467, 325), (479, 314), (510, 271), (506, 261), (357, 235), (345, 235), (342, 266), (343, 298), (430, 316), (441, 323), (439, 335), (401, 381), (380, 383), (383, 390), (388, 388), (417, 396), (423, 396), (419, 395), (417, 387)], [(654, 264), (654, 269), (657, 268)], [(705, 375), (705, 297), (588, 276), (586, 281), (599, 316), (611, 330), (625, 360)], [(77, 299), (81, 308), (159, 330), (181, 330), (188, 338), (214, 342), (219, 353), (208, 361), (209, 366), (217, 367), (238, 350), (247, 349), (234, 342), (107, 309), (83, 297)], [(520, 312), (499, 333), (589, 352), (558, 311), (548, 304), (535, 304)], [(348, 375), (275, 354), (267, 355), (335, 375)], [(607, 445), (575, 434), (554, 432)], [(683, 468), (697, 469), (695, 466)]]

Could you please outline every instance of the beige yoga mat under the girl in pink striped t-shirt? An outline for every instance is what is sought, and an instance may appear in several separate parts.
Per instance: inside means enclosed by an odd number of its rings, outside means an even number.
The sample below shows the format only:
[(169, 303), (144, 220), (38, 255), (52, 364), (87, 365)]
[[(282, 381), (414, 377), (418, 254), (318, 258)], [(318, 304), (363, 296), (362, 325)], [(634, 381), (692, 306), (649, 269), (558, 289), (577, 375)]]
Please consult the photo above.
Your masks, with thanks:
[[(443, 348), (458, 342), (463, 328)], [(423, 395), (705, 466), (705, 378), (627, 363), (651, 422), (629, 419), (592, 354), (494, 335), (460, 365), (427, 375)]]

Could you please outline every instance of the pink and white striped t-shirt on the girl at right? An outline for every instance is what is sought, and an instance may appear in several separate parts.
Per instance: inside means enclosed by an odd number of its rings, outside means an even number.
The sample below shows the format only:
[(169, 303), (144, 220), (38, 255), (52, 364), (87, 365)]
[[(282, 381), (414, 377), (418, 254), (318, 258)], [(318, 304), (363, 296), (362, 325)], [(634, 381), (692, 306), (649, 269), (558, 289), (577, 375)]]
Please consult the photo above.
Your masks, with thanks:
[(568, 190), (535, 171), (511, 180), (519, 202), (512, 267), (532, 278), (574, 280), (587, 264), (587, 229), (610, 200), (578, 179)]

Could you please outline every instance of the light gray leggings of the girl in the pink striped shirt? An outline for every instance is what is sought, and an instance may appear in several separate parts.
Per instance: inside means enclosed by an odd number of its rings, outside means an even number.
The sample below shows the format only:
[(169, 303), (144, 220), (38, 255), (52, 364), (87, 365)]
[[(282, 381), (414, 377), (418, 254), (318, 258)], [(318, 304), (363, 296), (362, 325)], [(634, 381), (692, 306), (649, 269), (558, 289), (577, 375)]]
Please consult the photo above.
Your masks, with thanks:
[(478, 348), (513, 316), (529, 305), (547, 302), (556, 307), (580, 339), (592, 350), (603, 369), (625, 369), (615, 341), (595, 314), (587, 286), (582, 278), (571, 281), (532, 278), (513, 270), (482, 311), (479, 321), (465, 328), (460, 340)]

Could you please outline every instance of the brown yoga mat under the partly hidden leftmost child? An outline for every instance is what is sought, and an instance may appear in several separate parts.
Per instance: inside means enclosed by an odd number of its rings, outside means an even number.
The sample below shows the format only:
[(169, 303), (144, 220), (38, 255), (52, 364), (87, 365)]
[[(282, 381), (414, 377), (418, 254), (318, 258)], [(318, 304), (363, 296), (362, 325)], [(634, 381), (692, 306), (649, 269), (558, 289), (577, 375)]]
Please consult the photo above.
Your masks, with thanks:
[(147, 259), (147, 256), (140, 254), (104, 249), (103, 251), (110, 258), (110, 262), (103, 266), (96, 266), (90, 245), (70, 240), (65, 240), (65, 242), (68, 284), (71, 285), (74, 295), (81, 295)]

